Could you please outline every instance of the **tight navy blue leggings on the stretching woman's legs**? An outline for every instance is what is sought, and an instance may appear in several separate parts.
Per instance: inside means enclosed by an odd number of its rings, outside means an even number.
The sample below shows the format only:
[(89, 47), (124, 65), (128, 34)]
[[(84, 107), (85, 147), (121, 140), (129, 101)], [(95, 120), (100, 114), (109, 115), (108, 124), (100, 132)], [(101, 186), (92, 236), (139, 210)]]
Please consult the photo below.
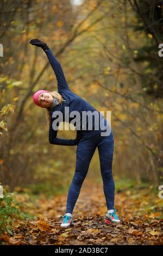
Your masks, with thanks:
[(98, 133), (88, 138), (83, 137), (79, 141), (76, 150), (76, 170), (68, 191), (66, 212), (71, 214), (73, 212), (79, 197), (80, 188), (82, 187), (92, 156), (97, 147), (106, 205), (108, 210), (114, 209), (115, 183), (112, 177), (114, 135), (111, 131), (109, 136), (101, 136), (101, 133)]

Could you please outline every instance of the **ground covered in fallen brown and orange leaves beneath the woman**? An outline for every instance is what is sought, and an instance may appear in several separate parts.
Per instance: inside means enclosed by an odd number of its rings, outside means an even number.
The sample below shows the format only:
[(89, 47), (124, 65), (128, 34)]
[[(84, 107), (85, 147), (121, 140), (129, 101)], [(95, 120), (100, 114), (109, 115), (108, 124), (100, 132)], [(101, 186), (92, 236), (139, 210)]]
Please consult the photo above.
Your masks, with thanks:
[(67, 193), (33, 200), (17, 194), (22, 209), (34, 220), (15, 221), (12, 235), (2, 234), (1, 245), (162, 245), (162, 199), (149, 188), (116, 192), (120, 224), (105, 223), (102, 184), (84, 182), (73, 211), (70, 228), (62, 229)]

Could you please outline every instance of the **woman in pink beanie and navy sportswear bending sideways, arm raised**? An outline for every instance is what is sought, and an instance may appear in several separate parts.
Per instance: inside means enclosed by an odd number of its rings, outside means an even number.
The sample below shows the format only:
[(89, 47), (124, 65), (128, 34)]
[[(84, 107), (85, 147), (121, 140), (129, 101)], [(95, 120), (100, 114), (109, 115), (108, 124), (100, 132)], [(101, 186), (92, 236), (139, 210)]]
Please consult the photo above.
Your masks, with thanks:
[[(97, 147), (103, 179), (103, 189), (108, 208), (105, 222), (120, 222), (120, 219), (116, 214), (116, 209), (114, 209), (115, 184), (112, 177), (114, 136), (111, 129), (109, 135), (102, 136), (101, 134), (102, 131), (105, 132), (107, 131), (108, 127), (110, 128), (109, 123), (103, 117), (105, 129), (101, 129), (100, 127), (97, 130), (95, 129), (97, 122), (94, 118), (92, 120), (92, 129), (89, 129), (89, 127), (87, 127), (87, 125), (89, 125), (87, 115), (83, 115), (83, 113), (88, 113), (87, 111), (93, 113), (96, 111), (96, 109), (70, 90), (60, 63), (45, 42), (40, 41), (39, 39), (33, 39), (30, 41), (30, 44), (41, 47), (42, 50), (45, 51), (49, 63), (52, 65), (58, 83), (58, 92), (39, 90), (33, 95), (34, 103), (37, 106), (47, 108), (49, 117), (49, 143), (54, 145), (77, 145), (76, 170), (68, 191), (66, 214), (63, 215), (61, 227), (67, 228), (72, 223), (72, 212), (77, 202), (80, 188), (82, 187), (83, 181), (89, 169), (90, 161)], [(65, 121), (67, 118), (66, 107), (70, 109), (69, 113), (72, 113), (72, 111), (77, 111), (80, 113), (80, 117), (75, 122), (76, 124), (74, 124), (77, 130), (76, 139), (57, 138), (58, 129), (56, 129), (56, 127), (54, 129), (53, 122), (57, 120), (56, 117), (54, 117), (55, 113), (62, 113), (63, 120), (61, 121)], [(70, 123), (72, 121), (72, 117), (69, 113), (68, 122)], [(98, 111), (96, 111), (96, 113), (98, 113), (101, 117), (101, 114)], [(86, 121), (83, 125), (84, 117), (86, 117)], [(101, 124), (101, 121), (98, 121), (98, 125), (99, 124)]]

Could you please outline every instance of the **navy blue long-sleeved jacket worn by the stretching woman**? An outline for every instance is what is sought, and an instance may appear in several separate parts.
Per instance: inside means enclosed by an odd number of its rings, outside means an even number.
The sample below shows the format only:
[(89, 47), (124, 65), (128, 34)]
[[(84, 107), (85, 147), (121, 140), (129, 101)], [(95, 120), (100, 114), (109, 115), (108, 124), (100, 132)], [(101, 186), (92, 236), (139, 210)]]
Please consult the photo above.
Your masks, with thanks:
[[(61, 65), (58, 62), (58, 60), (55, 58), (54, 54), (50, 49), (45, 50), (46, 55), (48, 57), (49, 63), (52, 65), (52, 68), (54, 70), (55, 76), (57, 78), (58, 83), (58, 93), (62, 95), (62, 97), (65, 99), (65, 101), (62, 101), (61, 105), (55, 106), (53, 109), (50, 109), (51, 113), (51, 124), (49, 126), (49, 143), (55, 144), (55, 145), (69, 145), (73, 146), (76, 145), (74, 139), (63, 139), (63, 138), (57, 138), (57, 132), (58, 130), (54, 130), (52, 127), (53, 121), (56, 119), (56, 117), (52, 117), (52, 114), (54, 111), (61, 111), (63, 114), (63, 122), (65, 121), (65, 107), (69, 107), (69, 113), (72, 111), (78, 111), (80, 113), (80, 124), (82, 124), (82, 111), (96, 111), (95, 108), (93, 108), (89, 102), (83, 100), (81, 97), (79, 97), (77, 94), (73, 93), (70, 88), (68, 87), (68, 84), (66, 82), (66, 78), (64, 76), (64, 72), (62, 71)], [(96, 111), (98, 112), (98, 111)], [(99, 113), (99, 112), (98, 112)], [(69, 123), (72, 121), (76, 116), (71, 118), (69, 116)], [(87, 119), (86, 119), (87, 120)], [(93, 118), (93, 124), (95, 122), (95, 118)], [(59, 123), (59, 122), (58, 122)], [(87, 123), (86, 123), (87, 125)], [(58, 125), (59, 126), (59, 125)], [(83, 124), (80, 126), (81, 130), (78, 130), (77, 124), (75, 123), (74, 126), (77, 130), (77, 137), (87, 133), (88, 136), (90, 136), (91, 132), (90, 130), (82, 130)], [(84, 125), (85, 126), (85, 125)], [(93, 129), (92, 129), (93, 130)], [(95, 132), (95, 131), (94, 131)]]

